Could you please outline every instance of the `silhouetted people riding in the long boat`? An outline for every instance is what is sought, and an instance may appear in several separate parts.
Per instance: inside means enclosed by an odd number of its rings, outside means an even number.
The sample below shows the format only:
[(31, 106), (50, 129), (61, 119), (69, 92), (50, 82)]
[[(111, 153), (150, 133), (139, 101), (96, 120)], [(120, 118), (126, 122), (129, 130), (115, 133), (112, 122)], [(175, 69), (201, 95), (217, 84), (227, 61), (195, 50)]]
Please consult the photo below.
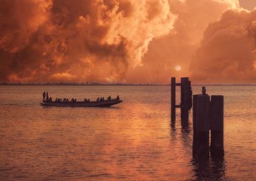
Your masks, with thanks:
[[(119, 101), (119, 95), (117, 95), (117, 100)], [(104, 100), (104, 97), (98, 97), (96, 101), (99, 102), (99, 101), (105, 101), (105, 100)], [(110, 96), (108, 96), (107, 101), (111, 101)], [(42, 93), (42, 102), (53, 102), (53, 98), (49, 97), (48, 92), (44, 91), (44, 93)], [(90, 102), (90, 99), (85, 98), (84, 102)], [(76, 103), (76, 99), (72, 98), (71, 101), (69, 101), (69, 99), (67, 98), (64, 98), (64, 99), (56, 98), (55, 103)]]

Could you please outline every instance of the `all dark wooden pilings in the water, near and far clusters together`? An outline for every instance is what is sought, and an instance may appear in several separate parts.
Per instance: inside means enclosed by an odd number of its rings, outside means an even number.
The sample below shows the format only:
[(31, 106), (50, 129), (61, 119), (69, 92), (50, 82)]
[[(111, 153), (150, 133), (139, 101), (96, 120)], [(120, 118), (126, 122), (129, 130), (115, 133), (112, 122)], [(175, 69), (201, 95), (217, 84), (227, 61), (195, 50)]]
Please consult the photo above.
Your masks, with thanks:
[[(188, 125), (189, 111), (193, 106), (193, 158), (203, 159), (224, 156), (224, 97), (206, 94), (193, 95), (188, 77), (171, 78), (171, 120), (176, 119), (176, 108), (181, 108), (181, 125)], [(181, 86), (181, 104), (176, 105), (176, 86)]]

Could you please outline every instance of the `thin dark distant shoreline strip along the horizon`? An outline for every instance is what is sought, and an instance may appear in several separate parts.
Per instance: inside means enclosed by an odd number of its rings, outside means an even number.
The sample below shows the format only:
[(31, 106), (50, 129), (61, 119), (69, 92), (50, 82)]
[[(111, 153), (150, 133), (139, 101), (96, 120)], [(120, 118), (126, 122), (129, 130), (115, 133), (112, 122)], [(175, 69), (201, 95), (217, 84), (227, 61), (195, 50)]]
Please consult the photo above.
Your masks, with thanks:
[[(59, 82), (59, 83), (0, 83), (0, 86), (170, 86), (170, 84), (102, 84), (97, 82), (92, 83), (73, 83), (73, 82)], [(256, 86), (256, 84), (192, 84), (192, 86)]]

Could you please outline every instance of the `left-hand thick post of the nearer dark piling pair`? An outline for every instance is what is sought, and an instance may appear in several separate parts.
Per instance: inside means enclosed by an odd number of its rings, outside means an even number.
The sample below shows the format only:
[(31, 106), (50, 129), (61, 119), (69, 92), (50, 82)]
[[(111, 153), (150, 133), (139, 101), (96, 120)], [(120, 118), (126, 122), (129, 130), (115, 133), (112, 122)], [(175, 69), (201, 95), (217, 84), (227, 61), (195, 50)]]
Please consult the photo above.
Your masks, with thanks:
[(195, 157), (197, 159), (209, 158), (209, 130), (210, 130), (210, 97), (197, 95), (195, 108)]

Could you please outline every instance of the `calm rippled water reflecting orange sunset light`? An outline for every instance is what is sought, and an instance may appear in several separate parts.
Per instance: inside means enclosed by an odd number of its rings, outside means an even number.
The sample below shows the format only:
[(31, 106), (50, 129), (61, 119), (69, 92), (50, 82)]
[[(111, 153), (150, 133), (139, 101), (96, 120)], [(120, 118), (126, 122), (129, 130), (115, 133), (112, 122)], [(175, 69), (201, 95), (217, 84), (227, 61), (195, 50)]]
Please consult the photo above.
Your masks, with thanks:
[[(41, 107), (43, 91), (123, 103)], [(198, 163), (191, 115), (170, 124), (168, 86), (0, 86), (0, 180), (256, 180), (256, 86), (207, 93), (224, 95), (225, 156)]]

